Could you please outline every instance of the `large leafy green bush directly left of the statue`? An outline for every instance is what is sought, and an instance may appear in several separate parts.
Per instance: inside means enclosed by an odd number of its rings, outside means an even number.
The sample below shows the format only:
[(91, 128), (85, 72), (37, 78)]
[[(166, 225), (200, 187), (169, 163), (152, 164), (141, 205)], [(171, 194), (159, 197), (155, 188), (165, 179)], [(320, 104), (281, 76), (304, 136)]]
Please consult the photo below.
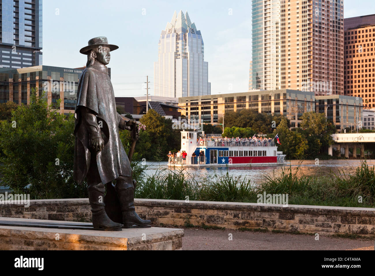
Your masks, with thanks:
[(86, 197), (86, 184), (73, 180), (73, 130), (74, 115), (56, 112), (33, 89), (30, 105), (0, 124), (2, 184), (35, 199)]

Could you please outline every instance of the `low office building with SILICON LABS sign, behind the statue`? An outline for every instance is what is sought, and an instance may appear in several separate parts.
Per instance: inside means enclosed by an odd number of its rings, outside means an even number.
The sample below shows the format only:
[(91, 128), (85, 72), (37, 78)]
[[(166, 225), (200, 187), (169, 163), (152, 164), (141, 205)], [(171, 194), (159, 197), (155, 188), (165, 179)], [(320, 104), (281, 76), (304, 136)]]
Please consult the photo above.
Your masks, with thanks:
[[(47, 98), (60, 113), (74, 112), (78, 81), (84, 68), (32, 66), (21, 69), (0, 69), (0, 103), (13, 101), (30, 104), (30, 92), (38, 90), (38, 97)], [(110, 74), (110, 68), (108, 73)], [(58, 100), (60, 104), (57, 104)]]

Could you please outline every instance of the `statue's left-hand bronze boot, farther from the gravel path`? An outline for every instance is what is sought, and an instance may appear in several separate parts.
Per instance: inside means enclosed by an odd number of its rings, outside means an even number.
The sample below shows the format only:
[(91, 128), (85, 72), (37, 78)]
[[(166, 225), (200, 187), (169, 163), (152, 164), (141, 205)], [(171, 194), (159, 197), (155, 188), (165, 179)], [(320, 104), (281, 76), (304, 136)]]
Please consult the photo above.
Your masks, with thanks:
[(91, 205), (91, 211), (93, 213), (93, 226), (94, 228), (104, 229), (117, 229), (122, 228), (121, 223), (113, 222), (105, 213), (104, 209), (104, 192), (105, 187), (103, 183), (89, 185), (87, 187), (89, 191), (89, 201)]

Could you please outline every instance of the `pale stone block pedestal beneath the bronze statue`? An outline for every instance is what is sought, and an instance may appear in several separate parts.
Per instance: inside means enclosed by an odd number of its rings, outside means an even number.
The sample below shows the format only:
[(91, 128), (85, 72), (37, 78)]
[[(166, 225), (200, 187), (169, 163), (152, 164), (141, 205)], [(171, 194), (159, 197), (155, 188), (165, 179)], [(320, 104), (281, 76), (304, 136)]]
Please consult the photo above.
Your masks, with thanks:
[[(7, 222), (61, 223), (57, 220), (0, 217)], [(77, 225), (91, 225), (91, 223)], [(122, 231), (37, 228), (0, 225), (0, 250), (176, 250), (183, 229), (132, 228)]]

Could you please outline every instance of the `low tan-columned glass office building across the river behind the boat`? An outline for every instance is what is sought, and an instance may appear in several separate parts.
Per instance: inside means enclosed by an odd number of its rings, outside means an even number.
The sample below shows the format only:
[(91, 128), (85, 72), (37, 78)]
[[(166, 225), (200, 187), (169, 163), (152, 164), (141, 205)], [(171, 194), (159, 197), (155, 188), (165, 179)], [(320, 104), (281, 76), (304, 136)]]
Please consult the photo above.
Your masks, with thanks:
[[(253, 109), (259, 113), (283, 115), (292, 127), (300, 127), (305, 112), (326, 113), (338, 131), (360, 121), (362, 98), (344, 95), (315, 96), (314, 92), (290, 89), (252, 91), (198, 97), (182, 97), (178, 106), (188, 120), (222, 123), (225, 112)], [(328, 107), (328, 108), (327, 108)]]

